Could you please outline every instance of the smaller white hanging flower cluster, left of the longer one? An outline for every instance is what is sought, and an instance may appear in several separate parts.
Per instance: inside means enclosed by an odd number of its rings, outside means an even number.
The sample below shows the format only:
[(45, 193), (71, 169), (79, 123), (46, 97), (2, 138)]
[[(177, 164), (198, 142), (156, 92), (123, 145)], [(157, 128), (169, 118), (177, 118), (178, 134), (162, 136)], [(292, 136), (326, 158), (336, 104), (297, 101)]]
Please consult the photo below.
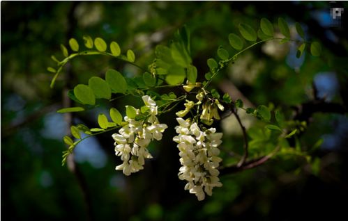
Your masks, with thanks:
[[(142, 100), (149, 109), (150, 116), (146, 117), (146, 120), (135, 120), (126, 116), (124, 120), (128, 124), (119, 129), (119, 133), (112, 135), (115, 140), (115, 154), (121, 156), (123, 161), (121, 165), (116, 166), (116, 170), (123, 170), (123, 174), (127, 176), (144, 169), (144, 159), (152, 158), (146, 147), (153, 139), (161, 140), (162, 133), (168, 127), (167, 124), (158, 122), (156, 102), (147, 95), (143, 96)], [(136, 112), (139, 115), (138, 109)]]

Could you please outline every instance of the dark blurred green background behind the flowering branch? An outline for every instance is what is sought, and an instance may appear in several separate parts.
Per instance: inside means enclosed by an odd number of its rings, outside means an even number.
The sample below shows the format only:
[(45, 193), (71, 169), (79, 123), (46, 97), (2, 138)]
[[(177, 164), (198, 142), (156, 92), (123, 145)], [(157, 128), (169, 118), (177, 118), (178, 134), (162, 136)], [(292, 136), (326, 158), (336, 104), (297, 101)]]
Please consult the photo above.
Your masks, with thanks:
[[(347, 219), (348, 118), (316, 113), (300, 140), (310, 150), (303, 156), (275, 157), (265, 165), (223, 177), (222, 188), (198, 202), (183, 190), (177, 177), (179, 155), (172, 142), (175, 115), (160, 117), (167, 123), (161, 142), (151, 145), (154, 158), (130, 177), (115, 171), (112, 133), (82, 142), (75, 149), (77, 171), (61, 166), (66, 149), (62, 137), (68, 124), (56, 113), (66, 90), (102, 76), (107, 68), (126, 76), (137, 69), (100, 56), (77, 58), (70, 76), (61, 74), (50, 88), (51, 55), (62, 58), (59, 44), (82, 36), (119, 42), (133, 49), (137, 64), (153, 60), (156, 44), (167, 44), (184, 24), (192, 34), (192, 58), (199, 74), (208, 72), (206, 59), (220, 45), (232, 51), (228, 34), (240, 22), (257, 26), (266, 17), (300, 22), (308, 40), (317, 40), (323, 56), (296, 58), (293, 44), (268, 42), (240, 56), (213, 85), (227, 92), (238, 88), (248, 105), (274, 104), (292, 110), (317, 98), (347, 107), (347, 13), (333, 24), (328, 1), (1, 1), (1, 218), (3, 220), (329, 220)], [(347, 2), (339, 7), (348, 10)], [(64, 81), (68, 79), (68, 81)], [(225, 85), (220, 83), (224, 82)], [(162, 91), (168, 92), (168, 91)], [(180, 91), (175, 91), (179, 93)], [(232, 98), (234, 95), (232, 94)], [(112, 104), (73, 115), (73, 123), (94, 127), (97, 113), (114, 106), (141, 104), (126, 97)], [(289, 114), (291, 116), (291, 113)], [(257, 122), (242, 116), (252, 129)], [(243, 137), (235, 120), (216, 125), (224, 131), (222, 157), (234, 163)], [(266, 144), (265, 144), (266, 145)], [(263, 147), (258, 147), (262, 149)], [(255, 156), (259, 149), (251, 149)]]

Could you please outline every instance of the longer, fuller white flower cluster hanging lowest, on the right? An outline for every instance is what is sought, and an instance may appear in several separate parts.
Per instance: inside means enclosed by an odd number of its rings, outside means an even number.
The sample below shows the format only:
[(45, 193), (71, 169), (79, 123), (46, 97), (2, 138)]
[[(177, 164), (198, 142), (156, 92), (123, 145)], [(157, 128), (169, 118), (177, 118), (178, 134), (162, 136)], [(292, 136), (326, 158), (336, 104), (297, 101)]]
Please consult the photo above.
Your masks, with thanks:
[(201, 131), (197, 123), (190, 123), (183, 118), (176, 118), (179, 126), (176, 126), (176, 133), (173, 140), (179, 148), (180, 163), (179, 179), (188, 183), (185, 190), (194, 193), (198, 200), (203, 200), (207, 195), (212, 195), (214, 187), (222, 186), (218, 178), (218, 166), (222, 161), (218, 155), (218, 146), (222, 143), (222, 133), (215, 133), (216, 129), (211, 128)]

